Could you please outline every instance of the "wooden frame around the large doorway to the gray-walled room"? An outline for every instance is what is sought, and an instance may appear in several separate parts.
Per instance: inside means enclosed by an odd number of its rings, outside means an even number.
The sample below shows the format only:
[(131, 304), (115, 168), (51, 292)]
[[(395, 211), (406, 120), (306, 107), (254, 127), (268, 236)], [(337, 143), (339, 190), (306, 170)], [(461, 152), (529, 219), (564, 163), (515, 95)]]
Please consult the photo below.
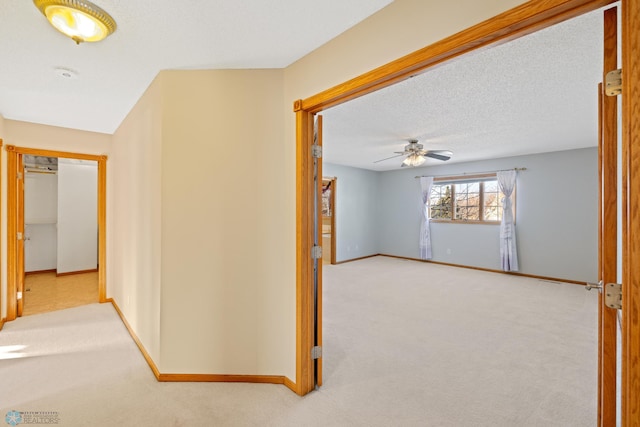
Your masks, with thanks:
[[(476, 49), (505, 43), (615, 3), (613, 0), (529, 1), (361, 76), (296, 100), (296, 392), (313, 390), (312, 314), (313, 115), (420, 74)], [(640, 2), (621, 0), (623, 47), (623, 348), (622, 419), (640, 422)], [(628, 212), (628, 214), (627, 214)]]

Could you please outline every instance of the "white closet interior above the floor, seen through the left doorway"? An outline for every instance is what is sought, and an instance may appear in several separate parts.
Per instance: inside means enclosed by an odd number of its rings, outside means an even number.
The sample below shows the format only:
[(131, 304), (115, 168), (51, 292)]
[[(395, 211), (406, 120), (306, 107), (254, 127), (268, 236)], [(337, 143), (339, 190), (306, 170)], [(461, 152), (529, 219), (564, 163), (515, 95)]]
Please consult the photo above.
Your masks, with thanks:
[(25, 156), (25, 272), (98, 268), (98, 165)]

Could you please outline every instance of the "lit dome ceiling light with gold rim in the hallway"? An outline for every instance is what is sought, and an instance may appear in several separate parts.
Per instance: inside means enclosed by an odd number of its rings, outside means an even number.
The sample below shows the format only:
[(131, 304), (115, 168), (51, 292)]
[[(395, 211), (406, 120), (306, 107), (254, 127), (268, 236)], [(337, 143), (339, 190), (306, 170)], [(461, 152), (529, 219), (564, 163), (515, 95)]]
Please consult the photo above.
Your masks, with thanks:
[(116, 30), (107, 12), (86, 0), (33, 0), (53, 27), (77, 44), (97, 42)]

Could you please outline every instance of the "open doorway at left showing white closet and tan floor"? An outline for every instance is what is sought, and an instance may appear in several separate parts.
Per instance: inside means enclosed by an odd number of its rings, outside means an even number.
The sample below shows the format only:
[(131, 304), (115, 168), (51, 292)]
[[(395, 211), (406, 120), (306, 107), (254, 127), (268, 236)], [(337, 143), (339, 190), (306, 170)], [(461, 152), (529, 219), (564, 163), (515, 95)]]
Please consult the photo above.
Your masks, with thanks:
[(25, 155), (23, 316), (99, 301), (98, 164)]

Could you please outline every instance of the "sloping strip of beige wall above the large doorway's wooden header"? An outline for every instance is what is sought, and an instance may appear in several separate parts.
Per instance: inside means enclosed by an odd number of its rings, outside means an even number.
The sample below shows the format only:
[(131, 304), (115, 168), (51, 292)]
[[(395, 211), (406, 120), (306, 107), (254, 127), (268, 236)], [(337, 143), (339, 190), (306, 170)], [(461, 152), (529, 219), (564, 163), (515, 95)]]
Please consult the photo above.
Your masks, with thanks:
[[(315, 95), (522, 3), (395, 0), (287, 67), (285, 102)], [(291, 105), (287, 108), (291, 111)]]

